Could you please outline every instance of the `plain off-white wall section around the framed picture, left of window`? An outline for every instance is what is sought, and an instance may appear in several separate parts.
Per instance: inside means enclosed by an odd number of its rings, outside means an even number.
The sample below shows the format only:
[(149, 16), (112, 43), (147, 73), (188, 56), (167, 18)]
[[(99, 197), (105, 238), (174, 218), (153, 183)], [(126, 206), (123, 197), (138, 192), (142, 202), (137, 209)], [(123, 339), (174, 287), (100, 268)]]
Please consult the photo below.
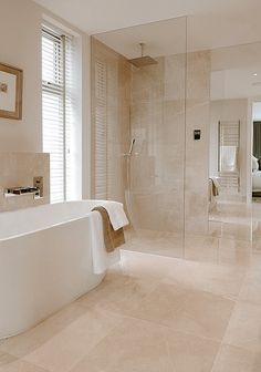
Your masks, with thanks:
[(41, 152), (41, 8), (0, 0), (0, 62), (23, 70), (22, 121), (0, 117), (0, 151)]

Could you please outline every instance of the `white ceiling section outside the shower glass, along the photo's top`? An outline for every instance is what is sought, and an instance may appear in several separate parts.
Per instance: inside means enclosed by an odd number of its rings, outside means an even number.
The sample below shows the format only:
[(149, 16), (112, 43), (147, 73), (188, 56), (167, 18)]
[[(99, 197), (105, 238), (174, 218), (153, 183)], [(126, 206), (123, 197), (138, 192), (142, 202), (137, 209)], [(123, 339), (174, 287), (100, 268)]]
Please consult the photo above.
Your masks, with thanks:
[[(260, 0), (33, 0), (88, 34), (191, 14), (260, 17)], [(240, 17), (241, 14), (241, 17)], [(244, 21), (244, 20), (243, 20)]]

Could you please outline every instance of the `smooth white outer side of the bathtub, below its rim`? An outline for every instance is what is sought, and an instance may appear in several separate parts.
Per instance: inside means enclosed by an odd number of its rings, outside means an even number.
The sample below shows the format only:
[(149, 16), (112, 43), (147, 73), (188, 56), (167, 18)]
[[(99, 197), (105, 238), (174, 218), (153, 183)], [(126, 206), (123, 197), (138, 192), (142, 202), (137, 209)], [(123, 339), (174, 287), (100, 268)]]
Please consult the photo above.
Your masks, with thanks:
[(0, 240), (0, 339), (28, 330), (104, 278), (93, 273), (88, 216)]

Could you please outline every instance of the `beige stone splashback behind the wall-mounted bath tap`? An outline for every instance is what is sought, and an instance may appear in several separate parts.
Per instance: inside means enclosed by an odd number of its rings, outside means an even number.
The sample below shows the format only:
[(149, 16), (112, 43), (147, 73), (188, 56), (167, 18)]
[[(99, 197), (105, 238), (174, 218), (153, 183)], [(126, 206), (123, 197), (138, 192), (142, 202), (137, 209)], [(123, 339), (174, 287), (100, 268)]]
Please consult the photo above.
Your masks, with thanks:
[[(32, 187), (33, 177), (43, 177), (43, 197), (4, 196), (7, 187)], [(0, 153), (0, 211), (50, 203), (50, 157), (43, 153)]]

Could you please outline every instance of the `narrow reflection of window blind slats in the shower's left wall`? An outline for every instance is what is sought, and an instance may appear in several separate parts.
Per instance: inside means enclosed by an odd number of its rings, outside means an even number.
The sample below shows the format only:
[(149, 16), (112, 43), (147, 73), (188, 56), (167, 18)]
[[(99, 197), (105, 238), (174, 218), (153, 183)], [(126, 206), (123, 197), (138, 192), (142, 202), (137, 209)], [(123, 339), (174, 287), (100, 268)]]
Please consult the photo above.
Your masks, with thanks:
[(107, 198), (107, 72), (95, 61), (95, 198)]

